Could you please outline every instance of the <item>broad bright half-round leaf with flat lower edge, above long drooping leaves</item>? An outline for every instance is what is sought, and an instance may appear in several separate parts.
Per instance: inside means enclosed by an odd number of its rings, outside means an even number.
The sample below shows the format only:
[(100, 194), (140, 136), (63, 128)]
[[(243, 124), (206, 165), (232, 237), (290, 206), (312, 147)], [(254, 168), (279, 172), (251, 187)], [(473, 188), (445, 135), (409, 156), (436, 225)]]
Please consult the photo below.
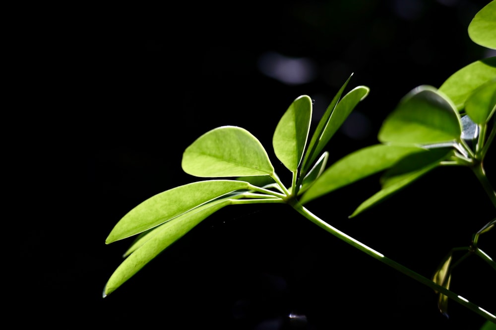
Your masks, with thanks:
[(196, 139), (183, 153), (183, 170), (197, 177), (272, 175), (267, 152), (247, 130), (215, 128)]

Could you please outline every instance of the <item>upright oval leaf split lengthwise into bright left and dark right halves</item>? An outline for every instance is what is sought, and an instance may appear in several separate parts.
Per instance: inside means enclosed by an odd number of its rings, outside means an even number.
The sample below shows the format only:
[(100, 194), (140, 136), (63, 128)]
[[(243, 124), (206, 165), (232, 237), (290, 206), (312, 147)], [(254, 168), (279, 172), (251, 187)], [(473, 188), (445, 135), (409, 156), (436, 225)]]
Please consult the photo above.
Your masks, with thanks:
[(296, 98), (281, 117), (272, 138), (275, 155), (292, 172), (298, 171), (307, 145), (311, 113), (311, 98)]

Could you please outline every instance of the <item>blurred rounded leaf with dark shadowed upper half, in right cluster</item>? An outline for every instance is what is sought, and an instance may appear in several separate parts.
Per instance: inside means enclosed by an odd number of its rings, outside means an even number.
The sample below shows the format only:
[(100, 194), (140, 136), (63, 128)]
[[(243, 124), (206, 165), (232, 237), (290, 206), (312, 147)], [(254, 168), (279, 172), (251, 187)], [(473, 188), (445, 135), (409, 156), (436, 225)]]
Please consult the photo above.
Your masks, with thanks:
[(451, 101), (432, 86), (419, 86), (404, 96), (384, 120), (381, 142), (433, 144), (460, 140), (460, 115)]

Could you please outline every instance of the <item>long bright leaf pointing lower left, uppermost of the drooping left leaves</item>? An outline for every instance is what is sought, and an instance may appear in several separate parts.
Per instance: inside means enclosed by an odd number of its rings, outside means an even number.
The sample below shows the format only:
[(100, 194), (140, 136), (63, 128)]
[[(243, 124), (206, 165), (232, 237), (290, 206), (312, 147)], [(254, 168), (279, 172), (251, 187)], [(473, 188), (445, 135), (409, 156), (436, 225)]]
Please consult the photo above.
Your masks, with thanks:
[(125, 214), (107, 237), (106, 244), (142, 233), (215, 198), (248, 187), (243, 181), (209, 180), (158, 193)]

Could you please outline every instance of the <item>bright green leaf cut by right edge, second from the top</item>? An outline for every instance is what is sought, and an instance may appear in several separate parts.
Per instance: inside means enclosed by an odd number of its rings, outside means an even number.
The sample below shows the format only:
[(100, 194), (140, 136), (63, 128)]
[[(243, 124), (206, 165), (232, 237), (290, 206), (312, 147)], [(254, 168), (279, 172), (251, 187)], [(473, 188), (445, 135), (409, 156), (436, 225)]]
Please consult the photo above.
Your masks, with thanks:
[(465, 107), (465, 101), (476, 88), (496, 78), (496, 56), (470, 63), (453, 73), (439, 87), (458, 110)]

